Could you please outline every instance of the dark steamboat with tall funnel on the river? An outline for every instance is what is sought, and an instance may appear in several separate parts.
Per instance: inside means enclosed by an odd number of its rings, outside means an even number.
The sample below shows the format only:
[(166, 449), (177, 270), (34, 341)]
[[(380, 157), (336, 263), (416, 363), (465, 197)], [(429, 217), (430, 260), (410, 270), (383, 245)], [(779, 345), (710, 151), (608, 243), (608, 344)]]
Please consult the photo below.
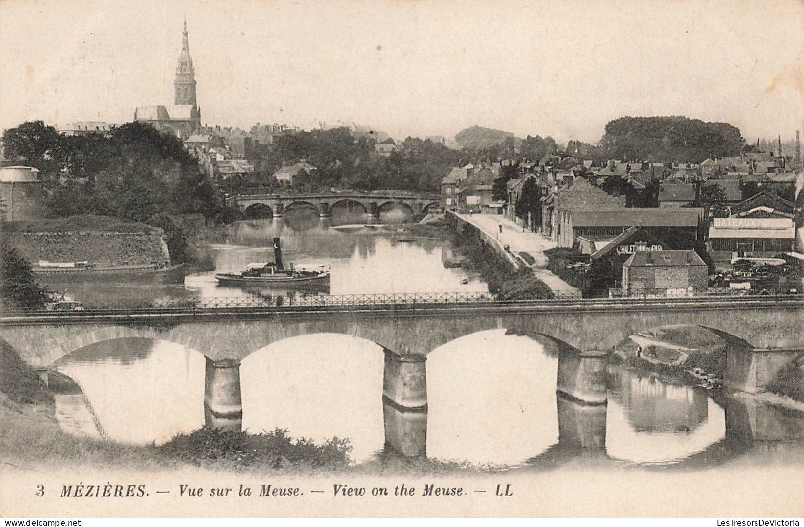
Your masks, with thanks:
[(273, 239), (274, 261), (251, 263), (245, 270), (236, 273), (218, 273), (215, 279), (221, 285), (261, 287), (327, 287), (330, 285), (330, 270), (326, 266), (299, 266), (288, 268), (282, 265), (282, 250), (279, 238)]

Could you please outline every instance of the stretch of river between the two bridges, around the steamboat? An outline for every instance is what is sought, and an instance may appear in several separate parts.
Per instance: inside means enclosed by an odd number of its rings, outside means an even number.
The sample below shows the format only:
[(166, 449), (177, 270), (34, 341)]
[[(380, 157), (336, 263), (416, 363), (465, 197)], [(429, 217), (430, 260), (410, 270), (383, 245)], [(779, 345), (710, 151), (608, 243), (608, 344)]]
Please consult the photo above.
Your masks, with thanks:
[[(290, 222), (290, 223), (288, 223)], [(306, 210), (290, 209), (281, 219), (247, 220), (228, 225), (217, 243), (206, 247), (215, 270), (188, 274), (183, 284), (148, 281), (93, 281), (49, 275), (44, 282), (54, 290), (67, 290), (69, 297), (87, 304), (133, 303), (211, 297), (252, 297), (303, 294), (425, 293), (441, 291), (488, 291), (486, 282), (442, 261), (445, 241), (417, 239), (398, 241), (392, 225), (369, 229), (330, 227), (329, 218)], [(273, 261), (273, 237), (281, 237), (285, 261), (297, 265), (330, 266), (330, 289), (280, 290), (220, 286), (215, 273), (244, 270), (249, 263)]]

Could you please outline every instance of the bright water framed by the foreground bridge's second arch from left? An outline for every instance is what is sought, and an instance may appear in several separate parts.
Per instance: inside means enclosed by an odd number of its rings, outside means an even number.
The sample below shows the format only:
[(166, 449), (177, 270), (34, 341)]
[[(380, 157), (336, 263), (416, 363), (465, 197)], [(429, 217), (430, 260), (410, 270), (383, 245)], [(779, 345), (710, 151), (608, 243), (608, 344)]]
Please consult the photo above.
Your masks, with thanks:
[(240, 366), (243, 428), (276, 427), (316, 442), (350, 438), (357, 462), (382, 450), (382, 348), (351, 336), (319, 334), (281, 340)]

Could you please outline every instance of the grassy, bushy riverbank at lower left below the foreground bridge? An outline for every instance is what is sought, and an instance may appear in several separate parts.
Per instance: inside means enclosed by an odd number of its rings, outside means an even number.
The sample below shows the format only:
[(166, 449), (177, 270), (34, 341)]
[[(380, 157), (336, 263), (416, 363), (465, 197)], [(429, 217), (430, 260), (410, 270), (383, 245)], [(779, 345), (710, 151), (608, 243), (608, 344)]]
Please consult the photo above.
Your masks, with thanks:
[(64, 432), (55, 418), (54, 397), (35, 371), (0, 340), (0, 444), (2, 461), (17, 467), (92, 466), (112, 470), (172, 470), (200, 467), (209, 471), (252, 473), (396, 474), (465, 471), (494, 467), (437, 459), (405, 459), (379, 455), (365, 463), (351, 462), (346, 438), (313, 443), (276, 429), (260, 434), (203, 427), (179, 434), (170, 442), (128, 445), (80, 438)]

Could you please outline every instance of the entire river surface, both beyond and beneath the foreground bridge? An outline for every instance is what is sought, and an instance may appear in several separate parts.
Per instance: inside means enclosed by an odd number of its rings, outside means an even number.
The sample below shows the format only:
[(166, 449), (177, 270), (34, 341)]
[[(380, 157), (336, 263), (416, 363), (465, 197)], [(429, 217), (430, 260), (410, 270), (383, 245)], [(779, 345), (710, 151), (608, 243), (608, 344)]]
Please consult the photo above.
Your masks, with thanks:
[[(488, 290), (477, 274), (454, 266), (449, 242), (407, 239), (393, 225), (333, 228), (323, 221), (286, 216), (233, 224), (222, 243), (210, 246), (215, 271), (273, 260), (278, 236), (286, 262), (330, 266), (331, 294)], [(183, 286), (67, 288), (84, 303), (287, 294), (218, 286), (213, 274), (191, 274)], [(464, 336), (429, 353), (424, 413), (384, 401), (383, 364), (377, 344), (351, 336), (269, 344), (240, 367), (242, 427), (253, 433), (279, 427), (317, 442), (349, 438), (357, 463), (376, 455), (536, 468), (573, 461), (712, 467), (732, 459), (802, 459), (798, 412), (747, 397), (712, 397), (712, 391), (619, 368), (609, 371), (607, 405), (580, 405), (556, 395), (557, 357), (504, 329)], [(161, 340), (110, 340), (55, 367), (80, 385), (91, 409), (78, 411), (74, 401), (57, 408), (65, 429), (76, 434), (92, 434), (86, 422), (92, 419), (112, 440), (165, 443), (205, 423), (205, 358), (195, 350)]]

